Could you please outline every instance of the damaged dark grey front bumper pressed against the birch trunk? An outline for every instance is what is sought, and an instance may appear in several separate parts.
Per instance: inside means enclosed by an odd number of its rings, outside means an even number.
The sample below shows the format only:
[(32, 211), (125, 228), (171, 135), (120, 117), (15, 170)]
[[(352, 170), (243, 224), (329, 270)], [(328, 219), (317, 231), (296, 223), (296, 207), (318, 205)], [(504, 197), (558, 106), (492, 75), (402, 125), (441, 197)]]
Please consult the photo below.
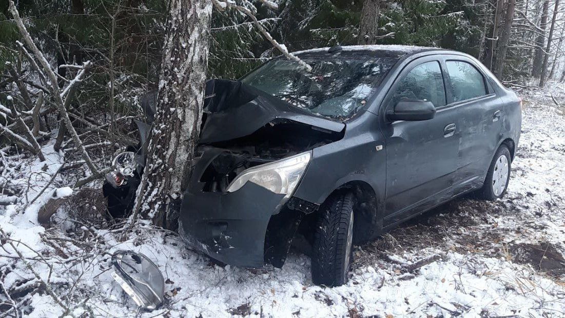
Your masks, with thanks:
[(223, 263), (259, 268), (271, 217), (288, 196), (247, 182), (234, 192), (210, 191), (201, 180), (214, 158), (226, 149), (203, 152), (182, 199), (179, 233), (188, 245)]

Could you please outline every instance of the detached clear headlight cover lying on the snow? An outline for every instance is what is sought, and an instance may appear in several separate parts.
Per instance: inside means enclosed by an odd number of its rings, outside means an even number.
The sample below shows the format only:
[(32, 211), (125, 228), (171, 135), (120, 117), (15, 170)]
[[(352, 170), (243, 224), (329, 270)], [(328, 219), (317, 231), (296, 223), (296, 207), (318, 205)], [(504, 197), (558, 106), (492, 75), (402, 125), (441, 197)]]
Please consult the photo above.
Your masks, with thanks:
[(155, 310), (163, 303), (163, 274), (144, 254), (116, 251), (112, 255), (112, 264), (116, 270), (112, 277), (142, 310)]

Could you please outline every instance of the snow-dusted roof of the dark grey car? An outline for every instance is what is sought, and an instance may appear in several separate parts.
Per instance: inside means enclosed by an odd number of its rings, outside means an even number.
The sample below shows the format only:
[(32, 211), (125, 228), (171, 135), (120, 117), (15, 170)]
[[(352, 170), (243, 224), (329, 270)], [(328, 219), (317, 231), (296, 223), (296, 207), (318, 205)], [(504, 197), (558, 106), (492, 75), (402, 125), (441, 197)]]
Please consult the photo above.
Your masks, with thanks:
[(329, 47), (312, 48), (310, 50), (293, 52), (297, 56), (332, 56), (334, 54), (356, 55), (363, 54), (366, 56), (374, 56), (378, 58), (400, 59), (405, 55), (412, 55), (425, 51), (446, 51), (437, 47), (414, 46), (414, 45), (347, 45), (341, 46), (341, 50), (337, 48), (336, 51), (328, 52)]

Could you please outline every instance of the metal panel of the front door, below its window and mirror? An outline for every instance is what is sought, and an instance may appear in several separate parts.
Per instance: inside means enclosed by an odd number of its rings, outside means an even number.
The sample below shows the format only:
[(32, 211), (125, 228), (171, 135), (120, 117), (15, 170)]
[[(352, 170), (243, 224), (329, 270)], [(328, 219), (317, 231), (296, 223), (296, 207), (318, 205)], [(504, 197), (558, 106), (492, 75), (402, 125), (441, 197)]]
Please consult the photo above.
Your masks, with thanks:
[(454, 191), (460, 134), (444, 136), (458, 123), (456, 109), (443, 109), (431, 120), (394, 122), (386, 137), (385, 223), (406, 218)]

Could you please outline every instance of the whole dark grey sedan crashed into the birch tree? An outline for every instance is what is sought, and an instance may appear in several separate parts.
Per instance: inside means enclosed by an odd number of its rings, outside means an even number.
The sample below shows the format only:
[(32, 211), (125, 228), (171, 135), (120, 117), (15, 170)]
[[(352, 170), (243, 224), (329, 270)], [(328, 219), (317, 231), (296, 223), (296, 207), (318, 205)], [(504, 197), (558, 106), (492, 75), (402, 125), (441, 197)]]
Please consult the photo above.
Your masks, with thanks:
[(299, 233), (312, 280), (336, 286), (354, 243), (464, 193), (505, 193), (521, 101), (471, 56), (411, 46), (297, 55), (312, 72), (277, 58), (241, 81), (207, 83), (179, 218), (189, 245), (235, 266), (281, 267)]

